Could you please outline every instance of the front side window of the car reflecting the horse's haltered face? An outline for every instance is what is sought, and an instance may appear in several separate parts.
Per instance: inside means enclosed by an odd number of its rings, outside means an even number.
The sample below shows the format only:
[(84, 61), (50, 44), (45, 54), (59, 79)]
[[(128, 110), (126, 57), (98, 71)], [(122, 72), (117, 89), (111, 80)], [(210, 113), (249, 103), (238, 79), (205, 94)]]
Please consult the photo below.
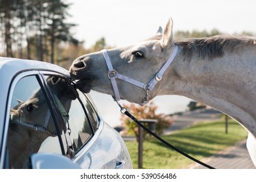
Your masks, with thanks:
[(37, 75), (23, 77), (14, 88), (8, 127), (10, 168), (26, 168), (32, 153), (61, 154), (48, 100)]

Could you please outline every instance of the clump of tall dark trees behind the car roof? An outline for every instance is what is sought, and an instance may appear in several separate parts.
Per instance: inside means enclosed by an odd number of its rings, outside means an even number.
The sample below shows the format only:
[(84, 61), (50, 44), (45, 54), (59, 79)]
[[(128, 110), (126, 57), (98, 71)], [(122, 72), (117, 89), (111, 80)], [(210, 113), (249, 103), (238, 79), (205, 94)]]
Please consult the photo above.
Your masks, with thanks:
[[(63, 0), (0, 0), (0, 32), (3, 55), (27, 59), (56, 60), (61, 42), (80, 42), (71, 34), (75, 25), (67, 23), (71, 4)], [(49, 57), (50, 55), (50, 57)]]

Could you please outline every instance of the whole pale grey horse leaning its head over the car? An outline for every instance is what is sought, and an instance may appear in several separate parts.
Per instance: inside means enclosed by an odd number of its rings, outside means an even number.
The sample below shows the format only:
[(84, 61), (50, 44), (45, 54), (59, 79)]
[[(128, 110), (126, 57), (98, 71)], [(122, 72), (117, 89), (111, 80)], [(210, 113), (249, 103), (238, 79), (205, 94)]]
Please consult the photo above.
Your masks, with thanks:
[[(248, 131), (256, 166), (256, 39), (212, 36), (173, 40), (172, 19), (139, 44), (83, 55), (70, 72), (83, 92), (145, 104), (160, 95), (180, 95), (221, 110)], [(123, 74), (123, 75), (122, 75)]]

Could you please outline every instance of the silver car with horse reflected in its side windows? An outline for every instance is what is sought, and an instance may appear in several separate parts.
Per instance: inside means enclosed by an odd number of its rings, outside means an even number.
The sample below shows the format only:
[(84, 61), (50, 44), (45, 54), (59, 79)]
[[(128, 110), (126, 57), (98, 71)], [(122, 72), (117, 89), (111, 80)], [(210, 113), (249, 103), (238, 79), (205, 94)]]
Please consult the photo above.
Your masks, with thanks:
[(0, 77), (0, 168), (133, 168), (120, 134), (68, 70), (0, 57)]

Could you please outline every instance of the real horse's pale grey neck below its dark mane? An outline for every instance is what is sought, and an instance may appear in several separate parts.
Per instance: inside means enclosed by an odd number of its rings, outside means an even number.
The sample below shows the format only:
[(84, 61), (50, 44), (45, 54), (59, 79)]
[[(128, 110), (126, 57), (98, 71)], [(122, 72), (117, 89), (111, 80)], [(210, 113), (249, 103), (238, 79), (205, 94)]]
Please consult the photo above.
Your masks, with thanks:
[[(164, 94), (195, 99), (228, 114), (256, 136), (256, 53), (225, 53), (212, 60), (178, 53)], [(170, 89), (171, 88), (171, 89)]]

